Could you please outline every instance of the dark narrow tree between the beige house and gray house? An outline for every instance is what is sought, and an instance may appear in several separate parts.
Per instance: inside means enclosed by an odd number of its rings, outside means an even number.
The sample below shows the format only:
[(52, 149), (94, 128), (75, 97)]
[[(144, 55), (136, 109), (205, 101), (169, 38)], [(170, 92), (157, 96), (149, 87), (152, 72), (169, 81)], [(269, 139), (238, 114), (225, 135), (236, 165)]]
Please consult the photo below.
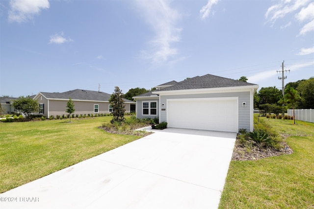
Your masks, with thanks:
[(124, 112), (126, 111), (124, 101), (122, 99), (122, 91), (119, 87), (115, 87), (114, 93), (111, 94), (109, 102), (112, 105), (113, 118), (110, 120), (111, 123), (114, 122), (123, 122), (124, 121)]

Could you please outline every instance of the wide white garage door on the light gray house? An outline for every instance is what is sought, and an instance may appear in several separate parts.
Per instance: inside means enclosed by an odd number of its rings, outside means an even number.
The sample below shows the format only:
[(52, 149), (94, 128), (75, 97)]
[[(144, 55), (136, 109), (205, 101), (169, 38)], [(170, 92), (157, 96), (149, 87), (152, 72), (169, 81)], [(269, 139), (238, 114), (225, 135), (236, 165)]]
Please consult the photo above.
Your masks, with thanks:
[(238, 131), (237, 97), (167, 100), (168, 127)]

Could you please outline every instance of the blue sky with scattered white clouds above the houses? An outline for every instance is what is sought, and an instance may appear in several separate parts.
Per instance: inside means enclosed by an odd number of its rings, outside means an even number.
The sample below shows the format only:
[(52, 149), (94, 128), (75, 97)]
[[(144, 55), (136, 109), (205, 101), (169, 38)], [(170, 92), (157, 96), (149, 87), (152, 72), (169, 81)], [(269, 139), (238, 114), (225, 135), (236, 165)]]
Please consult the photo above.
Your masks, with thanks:
[(314, 0), (1, 0), (0, 96), (314, 76)]

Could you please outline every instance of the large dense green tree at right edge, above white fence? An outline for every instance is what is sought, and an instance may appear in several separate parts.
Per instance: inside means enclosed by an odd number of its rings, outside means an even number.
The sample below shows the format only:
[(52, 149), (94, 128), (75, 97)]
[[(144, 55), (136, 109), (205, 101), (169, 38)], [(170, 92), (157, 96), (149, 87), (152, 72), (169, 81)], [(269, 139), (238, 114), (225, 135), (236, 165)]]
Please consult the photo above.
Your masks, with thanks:
[(298, 102), (299, 109), (314, 109), (314, 77), (299, 83), (297, 91), (301, 100)]

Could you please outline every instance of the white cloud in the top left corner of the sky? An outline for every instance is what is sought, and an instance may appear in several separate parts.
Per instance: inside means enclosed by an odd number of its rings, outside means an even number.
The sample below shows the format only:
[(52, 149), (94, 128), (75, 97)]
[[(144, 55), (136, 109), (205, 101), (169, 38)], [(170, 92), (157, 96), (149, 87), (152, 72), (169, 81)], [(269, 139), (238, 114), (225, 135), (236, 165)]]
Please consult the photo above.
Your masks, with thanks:
[(50, 7), (48, 0), (10, 0), (8, 20), (23, 23), (32, 20), (42, 9)]

